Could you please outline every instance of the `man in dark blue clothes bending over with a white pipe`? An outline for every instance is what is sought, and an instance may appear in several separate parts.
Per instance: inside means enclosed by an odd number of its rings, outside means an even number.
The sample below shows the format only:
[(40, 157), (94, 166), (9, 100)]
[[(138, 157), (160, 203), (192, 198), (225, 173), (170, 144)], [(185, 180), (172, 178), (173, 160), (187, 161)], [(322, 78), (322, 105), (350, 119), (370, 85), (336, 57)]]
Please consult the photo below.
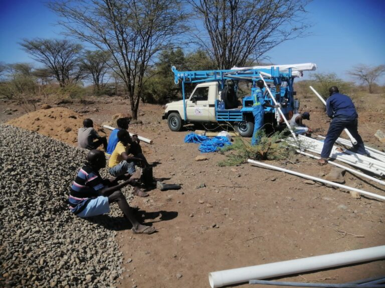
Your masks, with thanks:
[(339, 93), (338, 87), (336, 86), (330, 87), (329, 93), (330, 96), (326, 100), (326, 113), (332, 120), (323, 142), (321, 158), (318, 159), (318, 163), (321, 165), (327, 163), (334, 142), (344, 128), (348, 129), (351, 135), (357, 140), (357, 144), (353, 144), (351, 150), (358, 154), (366, 154), (365, 146), (357, 130), (358, 114), (353, 101), (349, 96)]

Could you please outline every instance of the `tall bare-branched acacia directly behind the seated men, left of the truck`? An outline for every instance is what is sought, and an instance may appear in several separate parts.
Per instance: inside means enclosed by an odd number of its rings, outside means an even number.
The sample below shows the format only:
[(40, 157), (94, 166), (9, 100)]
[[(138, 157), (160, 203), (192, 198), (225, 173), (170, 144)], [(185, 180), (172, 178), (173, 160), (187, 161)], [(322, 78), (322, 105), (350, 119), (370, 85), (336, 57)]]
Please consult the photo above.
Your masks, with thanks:
[(148, 65), (185, 30), (181, 0), (68, 0), (49, 7), (64, 18), (69, 35), (111, 54), (111, 69), (123, 80), (137, 119)]

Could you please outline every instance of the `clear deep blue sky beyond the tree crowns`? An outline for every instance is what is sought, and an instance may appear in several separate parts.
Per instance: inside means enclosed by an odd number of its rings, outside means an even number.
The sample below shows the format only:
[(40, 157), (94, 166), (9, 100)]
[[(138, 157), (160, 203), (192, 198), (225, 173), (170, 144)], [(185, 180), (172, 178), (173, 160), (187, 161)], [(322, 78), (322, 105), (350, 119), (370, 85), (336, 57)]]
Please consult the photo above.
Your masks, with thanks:
[[(346, 80), (353, 65), (385, 64), (385, 0), (314, 0), (307, 10), (311, 35), (268, 52), (273, 63), (313, 62), (317, 72), (335, 72)], [(43, 1), (0, 0), (0, 61), (33, 62), (18, 42), (60, 37), (55, 22)], [(379, 84), (385, 84), (385, 77)]]

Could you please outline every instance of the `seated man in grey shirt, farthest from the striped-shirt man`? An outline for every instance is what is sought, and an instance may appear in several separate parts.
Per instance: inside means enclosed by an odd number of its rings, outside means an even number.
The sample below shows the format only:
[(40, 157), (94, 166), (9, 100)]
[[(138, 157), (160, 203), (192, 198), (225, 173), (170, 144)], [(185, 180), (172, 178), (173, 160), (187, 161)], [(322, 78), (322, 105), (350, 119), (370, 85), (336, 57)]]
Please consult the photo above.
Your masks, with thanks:
[[(82, 128), (78, 131), (78, 146), (81, 148), (93, 150), (103, 144), (103, 148), (107, 150), (107, 138), (99, 136), (94, 129), (94, 122), (91, 119), (83, 120)], [(97, 139), (96, 141), (94, 141)]]

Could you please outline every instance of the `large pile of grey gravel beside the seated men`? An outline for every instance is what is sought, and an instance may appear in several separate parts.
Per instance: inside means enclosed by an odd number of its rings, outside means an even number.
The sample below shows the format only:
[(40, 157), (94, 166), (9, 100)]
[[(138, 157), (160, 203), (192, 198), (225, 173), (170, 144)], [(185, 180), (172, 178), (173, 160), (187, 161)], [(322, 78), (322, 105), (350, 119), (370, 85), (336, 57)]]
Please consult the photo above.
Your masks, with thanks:
[(85, 220), (68, 209), (68, 189), (86, 153), (0, 125), (0, 286), (115, 286), (123, 214), (114, 204), (110, 216)]

